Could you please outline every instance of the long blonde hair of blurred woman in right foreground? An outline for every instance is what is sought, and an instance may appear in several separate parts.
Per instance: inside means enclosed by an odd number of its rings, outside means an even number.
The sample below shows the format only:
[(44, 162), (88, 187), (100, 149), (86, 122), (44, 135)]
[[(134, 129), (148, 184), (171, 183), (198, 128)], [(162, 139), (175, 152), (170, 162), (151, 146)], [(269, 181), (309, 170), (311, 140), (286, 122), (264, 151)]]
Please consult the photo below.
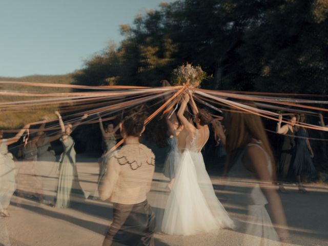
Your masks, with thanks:
[[(255, 107), (254, 104), (252, 106)], [(226, 144), (228, 161), (226, 163), (226, 171), (231, 168), (233, 162), (236, 161), (235, 158), (237, 158), (238, 154), (241, 154), (242, 149), (252, 141), (252, 138), (262, 142), (262, 147), (270, 156), (272, 168), (275, 170), (275, 160), (269, 140), (265, 133), (262, 120), (258, 115), (245, 112), (229, 112), (226, 114), (224, 120), (224, 125), (228, 130)], [(275, 172), (273, 173), (275, 174)]]

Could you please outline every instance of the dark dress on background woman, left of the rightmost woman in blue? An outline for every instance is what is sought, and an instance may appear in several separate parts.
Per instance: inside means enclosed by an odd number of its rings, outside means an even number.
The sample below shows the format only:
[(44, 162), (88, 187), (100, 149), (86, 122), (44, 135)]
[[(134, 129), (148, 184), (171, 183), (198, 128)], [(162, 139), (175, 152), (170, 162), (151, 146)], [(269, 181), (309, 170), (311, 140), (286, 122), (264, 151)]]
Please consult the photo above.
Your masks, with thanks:
[(278, 177), (284, 181), (288, 176), (295, 150), (294, 132), (288, 128), (288, 132), (283, 136), (283, 143), (280, 152)]

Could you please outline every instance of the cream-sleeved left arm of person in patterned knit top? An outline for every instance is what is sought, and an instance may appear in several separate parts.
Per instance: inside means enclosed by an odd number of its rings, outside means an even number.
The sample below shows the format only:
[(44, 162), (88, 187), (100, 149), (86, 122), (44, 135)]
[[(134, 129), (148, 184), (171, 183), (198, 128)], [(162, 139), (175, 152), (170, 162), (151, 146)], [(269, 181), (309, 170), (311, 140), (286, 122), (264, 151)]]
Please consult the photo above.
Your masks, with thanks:
[(119, 171), (119, 164), (117, 163), (116, 158), (110, 158), (107, 164), (106, 176), (104, 177), (103, 183), (99, 187), (101, 200), (107, 200), (112, 196), (115, 184), (118, 180)]

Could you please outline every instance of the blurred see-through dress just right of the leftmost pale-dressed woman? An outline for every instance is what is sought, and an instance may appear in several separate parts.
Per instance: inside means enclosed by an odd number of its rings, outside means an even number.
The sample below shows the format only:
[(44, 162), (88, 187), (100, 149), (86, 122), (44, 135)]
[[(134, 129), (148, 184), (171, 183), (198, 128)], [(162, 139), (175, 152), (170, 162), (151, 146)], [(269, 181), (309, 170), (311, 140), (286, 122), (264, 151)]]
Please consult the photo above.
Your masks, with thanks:
[(36, 174), (37, 148), (28, 142), (23, 149), (23, 161), (16, 177), (17, 190), (23, 193), (43, 194), (42, 185)]

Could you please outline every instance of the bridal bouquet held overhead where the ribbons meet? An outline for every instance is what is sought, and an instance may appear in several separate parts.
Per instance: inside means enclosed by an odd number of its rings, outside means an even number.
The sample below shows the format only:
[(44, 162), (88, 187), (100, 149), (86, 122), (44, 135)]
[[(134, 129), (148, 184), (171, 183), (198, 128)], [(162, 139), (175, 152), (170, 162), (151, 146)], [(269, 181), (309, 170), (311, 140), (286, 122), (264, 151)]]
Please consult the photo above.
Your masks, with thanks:
[(200, 66), (191, 66), (187, 65), (179, 66), (173, 70), (172, 73), (172, 82), (175, 86), (182, 86), (183, 84), (197, 88), (200, 86), (200, 83), (203, 79), (209, 78), (206, 72), (201, 70)]

